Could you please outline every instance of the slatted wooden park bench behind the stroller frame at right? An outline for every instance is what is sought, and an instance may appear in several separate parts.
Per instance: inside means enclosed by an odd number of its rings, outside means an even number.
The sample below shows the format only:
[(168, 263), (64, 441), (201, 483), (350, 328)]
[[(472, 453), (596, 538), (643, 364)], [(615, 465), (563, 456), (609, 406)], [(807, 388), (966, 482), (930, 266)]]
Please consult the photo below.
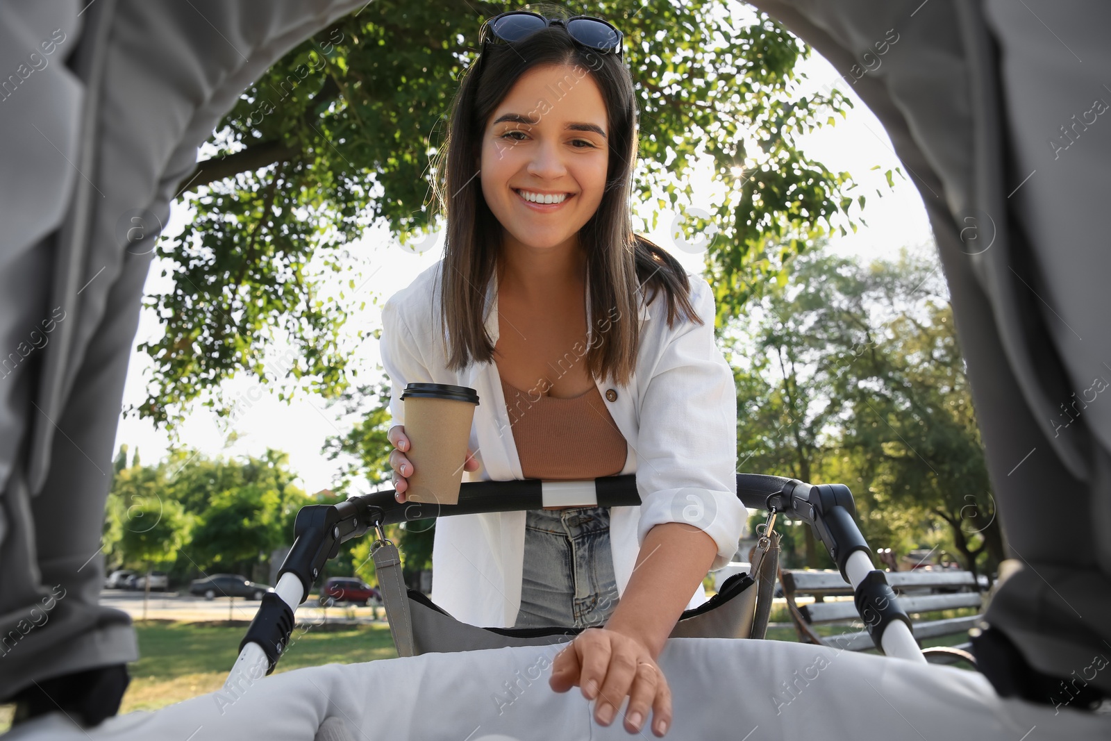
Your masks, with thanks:
[[(910, 615), (914, 638), (921, 645), (924, 639), (942, 635), (963, 634), (980, 620), (979, 614), (962, 618), (921, 620), (924, 614), (940, 610), (975, 608), (979, 612), (981, 598), (975, 577), (970, 571), (919, 570), (889, 571), (884, 574), (895, 591), (899, 604)], [(787, 600), (791, 620), (799, 633), (799, 640), (813, 642), (815, 638), (824, 645), (863, 651), (874, 644), (868, 631), (818, 637), (810, 625), (861, 624), (860, 614), (852, 601), (852, 588), (835, 570), (784, 569), (780, 572), (783, 597)], [(797, 604), (798, 597), (811, 595), (812, 604)], [(847, 597), (848, 599), (827, 599)], [(803, 624), (804, 623), (804, 624)], [(964, 660), (975, 665), (968, 653), (970, 642), (955, 647), (923, 649), (927, 659), (937, 663), (953, 663)]]

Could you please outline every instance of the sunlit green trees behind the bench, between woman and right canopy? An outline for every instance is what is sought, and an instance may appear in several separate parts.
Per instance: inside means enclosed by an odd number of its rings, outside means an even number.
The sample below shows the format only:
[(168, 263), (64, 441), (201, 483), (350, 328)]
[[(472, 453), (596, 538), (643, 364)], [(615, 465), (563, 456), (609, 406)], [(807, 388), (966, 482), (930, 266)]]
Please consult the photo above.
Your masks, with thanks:
[[(798, 258), (727, 330), (738, 454), (742, 470), (849, 484), (873, 545), (952, 548), (990, 572), (1002, 531), (942, 291), (935, 264), (905, 251), (868, 267), (820, 249)], [(804, 534), (801, 560), (818, 565)], [(784, 542), (789, 562), (798, 540)]]

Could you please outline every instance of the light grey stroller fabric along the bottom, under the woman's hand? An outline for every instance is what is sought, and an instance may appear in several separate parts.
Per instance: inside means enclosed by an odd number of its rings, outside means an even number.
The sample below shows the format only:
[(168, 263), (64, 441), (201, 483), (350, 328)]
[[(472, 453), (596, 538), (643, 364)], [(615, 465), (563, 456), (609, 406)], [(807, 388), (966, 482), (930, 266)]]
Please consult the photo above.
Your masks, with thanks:
[[(276, 672), (81, 729), (60, 712), (4, 741), (649, 741), (548, 684), (564, 643)], [(673, 638), (659, 657), (673, 741), (1105, 741), (1111, 715), (1000, 698), (977, 672), (827, 645)], [(651, 719), (649, 719), (651, 720)], [(338, 725), (333, 734), (323, 729)], [(318, 730), (320, 729), (320, 730)]]

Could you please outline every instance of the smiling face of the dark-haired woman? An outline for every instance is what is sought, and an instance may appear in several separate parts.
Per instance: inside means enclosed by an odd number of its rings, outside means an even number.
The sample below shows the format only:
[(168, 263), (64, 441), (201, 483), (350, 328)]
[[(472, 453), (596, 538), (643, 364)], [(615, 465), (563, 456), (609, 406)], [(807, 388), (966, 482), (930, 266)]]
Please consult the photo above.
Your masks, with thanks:
[[(607, 136), (605, 103), (585, 69), (548, 64), (521, 76), (487, 121), (479, 166), (507, 249), (578, 246), (602, 201)], [(554, 202), (529, 201), (538, 198)]]

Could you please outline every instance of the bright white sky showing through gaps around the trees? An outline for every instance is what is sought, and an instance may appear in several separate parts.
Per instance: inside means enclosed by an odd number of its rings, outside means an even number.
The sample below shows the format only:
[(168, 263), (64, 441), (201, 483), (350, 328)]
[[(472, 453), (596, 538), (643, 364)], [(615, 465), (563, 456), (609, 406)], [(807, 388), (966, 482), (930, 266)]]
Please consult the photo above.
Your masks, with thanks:
[[(807, 60), (801, 69), (814, 90), (839, 81), (833, 68), (817, 56)], [(882, 174), (884, 170), (899, 167), (883, 128), (851, 89), (845, 90), (849, 87), (847, 83), (841, 82), (839, 87), (852, 98), (854, 108), (847, 119), (838, 118), (835, 127), (823, 127), (807, 136), (802, 140), (802, 149), (830, 170), (843, 170), (852, 174), (859, 187), (851, 194), (867, 197), (863, 214), (868, 227), (861, 226), (857, 233), (849, 232), (848, 237), (834, 238), (832, 249), (864, 261), (894, 257), (901, 247), (932, 253), (929, 222), (917, 189), (910, 180), (898, 174), (894, 189), (889, 189)], [(749, 151), (755, 150), (750, 148)], [(879, 169), (872, 170), (875, 166)], [(707, 204), (703, 208), (709, 210), (715, 190), (713, 183), (702, 176), (692, 178), (692, 181), (694, 206), (702, 202)], [(878, 190), (883, 193), (882, 198)], [(172, 239), (179, 233), (189, 214), (187, 206), (174, 203), (163, 239)], [(648, 218), (650, 212), (643, 210), (641, 216)], [(702, 272), (702, 256), (675, 248), (668, 236), (673, 218), (672, 212), (662, 212), (658, 229), (650, 232), (650, 238), (668, 248), (688, 270)], [(362, 239), (350, 244), (350, 253), (359, 258), (359, 263), (352, 268), (356, 284), (362, 284), (359, 292), (367, 301), (366, 310), (349, 324), (351, 334), (360, 328), (369, 330), (380, 327), (381, 303), (393, 292), (408, 286), (421, 270), (439, 260), (442, 247), (442, 239), (437, 239), (434, 247), (413, 254), (392, 240), (384, 229), (368, 229)], [(344, 278), (349, 277), (352, 276)], [(147, 293), (161, 292), (167, 284), (168, 281), (161, 278), (161, 269), (156, 262), (147, 281)], [(157, 317), (153, 311), (144, 309), (134, 344), (152, 340), (159, 334)], [(376, 346), (377, 342), (370, 339), (353, 352), (352, 357), (362, 369), (360, 380), (370, 380), (378, 372)], [(274, 357), (278, 354), (280, 351), (273, 353)], [(138, 405), (144, 399), (144, 374), (150, 367), (151, 362), (146, 353), (133, 351), (123, 393), (124, 408), (129, 404)], [(242, 375), (226, 383), (223, 392), (229, 399), (240, 398), (246, 408), (246, 412), (234, 424), (237, 438), (229, 441), (228, 432), (217, 424), (216, 415), (198, 405), (181, 427), (180, 444), (199, 449), (207, 455), (261, 455), (268, 447), (274, 448), (289, 453), (291, 467), (300, 474), (300, 485), (306, 491), (311, 493), (332, 487), (339, 469), (338, 461), (327, 460), (321, 448), (326, 438), (347, 432), (351, 428), (351, 420), (341, 419), (338, 409), (327, 409), (321, 399), (302, 391), (298, 391), (292, 403), (287, 404), (271, 393), (271, 387), (260, 385), (258, 381)], [(127, 419), (121, 417), (116, 449), (121, 443), (127, 443), (131, 450), (138, 448), (142, 461), (153, 463), (167, 454), (170, 438), (167, 432), (157, 430), (149, 420), (139, 420), (133, 415)], [(349, 493), (362, 491), (357, 487)]]

